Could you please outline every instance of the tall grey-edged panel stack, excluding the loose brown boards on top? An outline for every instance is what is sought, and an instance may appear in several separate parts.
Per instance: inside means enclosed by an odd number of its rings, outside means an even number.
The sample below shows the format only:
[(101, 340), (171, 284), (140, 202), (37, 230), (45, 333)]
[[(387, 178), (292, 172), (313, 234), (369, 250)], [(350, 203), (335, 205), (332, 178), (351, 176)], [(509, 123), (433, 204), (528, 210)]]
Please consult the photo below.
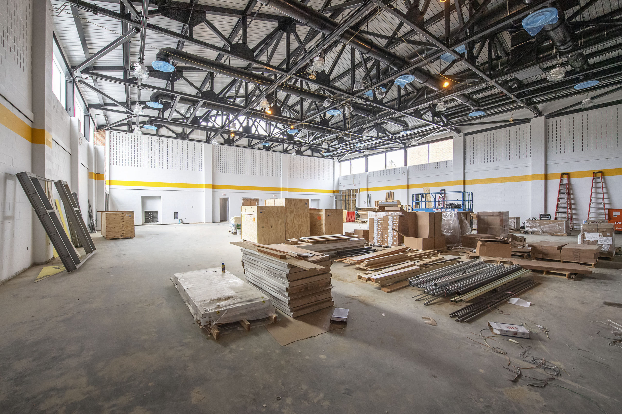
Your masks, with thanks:
[(319, 268), (304, 269), (282, 259), (242, 248), (246, 280), (272, 299), (290, 317), (315, 312), (334, 304), (330, 283), (331, 261), (321, 256)]

